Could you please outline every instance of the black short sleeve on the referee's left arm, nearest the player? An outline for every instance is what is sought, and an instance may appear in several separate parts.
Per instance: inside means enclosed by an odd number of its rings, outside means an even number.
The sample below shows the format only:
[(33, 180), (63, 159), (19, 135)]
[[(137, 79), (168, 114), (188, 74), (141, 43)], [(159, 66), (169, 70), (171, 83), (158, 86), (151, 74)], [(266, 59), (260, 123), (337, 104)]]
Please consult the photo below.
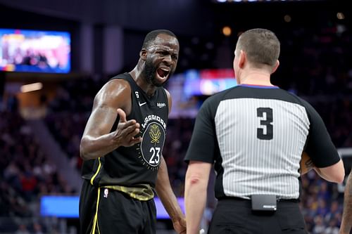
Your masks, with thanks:
[(214, 125), (216, 103), (209, 99), (213, 100), (213, 98), (208, 98), (196, 117), (191, 142), (186, 157), (184, 157), (187, 163), (195, 160), (213, 164), (215, 160), (214, 152), (218, 148)]

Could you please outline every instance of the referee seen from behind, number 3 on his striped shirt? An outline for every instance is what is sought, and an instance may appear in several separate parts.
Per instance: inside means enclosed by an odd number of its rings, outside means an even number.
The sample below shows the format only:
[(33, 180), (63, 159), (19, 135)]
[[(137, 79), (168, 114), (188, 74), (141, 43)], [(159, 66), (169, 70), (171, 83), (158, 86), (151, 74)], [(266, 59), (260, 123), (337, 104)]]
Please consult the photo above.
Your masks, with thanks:
[(279, 40), (265, 29), (241, 34), (234, 51), (238, 86), (208, 98), (196, 118), (185, 161), (187, 233), (199, 233), (210, 168), (218, 204), (208, 233), (307, 233), (298, 207), (302, 152), (327, 181), (344, 165), (320, 115), (279, 89)]

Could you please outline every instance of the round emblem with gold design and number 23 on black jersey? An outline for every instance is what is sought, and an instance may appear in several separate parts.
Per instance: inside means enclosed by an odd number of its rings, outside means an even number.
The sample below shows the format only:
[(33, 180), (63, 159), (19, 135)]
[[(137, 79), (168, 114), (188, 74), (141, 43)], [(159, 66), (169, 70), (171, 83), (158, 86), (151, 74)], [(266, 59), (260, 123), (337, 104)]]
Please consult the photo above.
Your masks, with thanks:
[(142, 136), (141, 152), (143, 161), (150, 167), (157, 169), (163, 152), (165, 130), (161, 124), (151, 122)]

